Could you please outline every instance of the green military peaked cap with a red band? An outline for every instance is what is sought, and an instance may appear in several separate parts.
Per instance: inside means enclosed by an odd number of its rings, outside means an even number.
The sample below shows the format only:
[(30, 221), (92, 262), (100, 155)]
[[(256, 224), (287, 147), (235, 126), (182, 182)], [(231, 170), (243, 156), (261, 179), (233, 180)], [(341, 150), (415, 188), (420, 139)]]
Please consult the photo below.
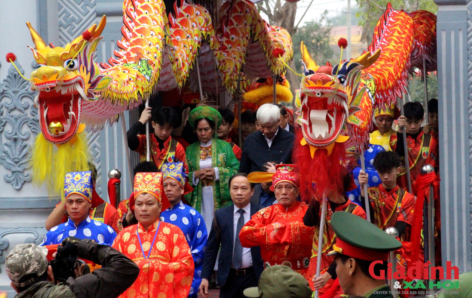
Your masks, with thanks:
[(339, 253), (366, 261), (387, 261), (389, 251), (402, 247), (393, 236), (349, 212), (335, 212), (331, 226), (337, 240), (328, 255)]

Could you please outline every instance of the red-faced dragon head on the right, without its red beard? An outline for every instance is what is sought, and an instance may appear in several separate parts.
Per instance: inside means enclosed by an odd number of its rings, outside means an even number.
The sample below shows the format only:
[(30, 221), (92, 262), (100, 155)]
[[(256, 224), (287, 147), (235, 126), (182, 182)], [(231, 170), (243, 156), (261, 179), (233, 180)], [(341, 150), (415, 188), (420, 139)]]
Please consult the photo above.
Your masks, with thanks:
[[(367, 104), (371, 105), (373, 100), (368, 84), (364, 83), (362, 69), (374, 63), (380, 51), (373, 56), (367, 52), (330, 67), (316, 65), (303, 41), (301, 48), (304, 77), (295, 104), (304, 140), (311, 146), (324, 148), (335, 141), (345, 141), (346, 135), (355, 138), (347, 124), (360, 126), (367, 120), (357, 112), (366, 104), (363, 101), (368, 100)], [(365, 121), (363, 124), (370, 123)]]

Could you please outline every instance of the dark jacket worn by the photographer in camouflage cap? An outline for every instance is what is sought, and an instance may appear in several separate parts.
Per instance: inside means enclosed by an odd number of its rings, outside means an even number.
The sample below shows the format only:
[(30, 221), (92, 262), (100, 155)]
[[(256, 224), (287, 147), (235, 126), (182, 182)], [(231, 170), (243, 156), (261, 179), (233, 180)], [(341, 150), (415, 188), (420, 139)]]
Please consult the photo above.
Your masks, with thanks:
[(76, 279), (69, 277), (57, 285), (48, 281), (34, 283), (15, 298), (116, 298), (139, 274), (139, 267), (129, 258), (93, 240), (77, 242), (77, 256), (102, 267)]

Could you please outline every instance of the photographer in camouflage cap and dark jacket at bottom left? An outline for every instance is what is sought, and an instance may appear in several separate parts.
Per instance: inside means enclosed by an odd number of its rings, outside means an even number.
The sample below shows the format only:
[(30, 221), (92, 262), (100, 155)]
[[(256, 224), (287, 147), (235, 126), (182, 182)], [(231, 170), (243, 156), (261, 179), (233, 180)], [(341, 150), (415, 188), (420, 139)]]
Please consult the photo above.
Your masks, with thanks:
[[(46, 248), (32, 243), (19, 244), (8, 254), (5, 267), (11, 286), (18, 293), (15, 298), (116, 298), (139, 274), (138, 266), (118, 250), (93, 240), (71, 237), (62, 241), (56, 256), (53, 255), (55, 260), (80, 257), (100, 264), (102, 268), (82, 275), (84, 266), (74, 269), (72, 265), (77, 278), (68, 277), (65, 282), (56, 284), (64, 276), (57, 276), (56, 270), (53, 274), (46, 255)], [(62, 273), (67, 268), (58, 270)]]

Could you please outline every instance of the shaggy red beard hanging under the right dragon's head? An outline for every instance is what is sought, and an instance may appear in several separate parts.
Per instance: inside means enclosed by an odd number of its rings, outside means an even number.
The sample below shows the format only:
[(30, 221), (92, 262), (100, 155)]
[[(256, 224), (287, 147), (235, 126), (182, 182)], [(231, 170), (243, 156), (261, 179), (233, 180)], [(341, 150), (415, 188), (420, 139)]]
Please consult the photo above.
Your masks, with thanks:
[(343, 166), (346, 159), (344, 144), (335, 143), (329, 156), (328, 150), (318, 149), (312, 158), (310, 146), (300, 144), (302, 138), (302, 129), (296, 128), (293, 160), (298, 165), (301, 199), (309, 203), (312, 198), (320, 200), (323, 194), (327, 195), (332, 191), (344, 193), (348, 174)]

